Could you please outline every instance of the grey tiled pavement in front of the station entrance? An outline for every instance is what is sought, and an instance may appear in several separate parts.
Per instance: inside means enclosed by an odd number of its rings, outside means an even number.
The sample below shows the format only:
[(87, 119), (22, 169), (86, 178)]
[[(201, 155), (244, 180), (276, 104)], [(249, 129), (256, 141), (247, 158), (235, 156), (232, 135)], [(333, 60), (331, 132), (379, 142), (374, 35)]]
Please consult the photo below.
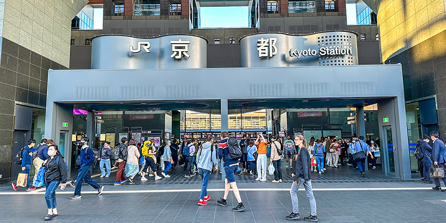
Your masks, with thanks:
[[(446, 222), (446, 193), (429, 190), (431, 185), (416, 180), (396, 179), (371, 170), (362, 179), (357, 178), (357, 173), (347, 167), (329, 169), (327, 172), (323, 176), (313, 174), (312, 178), (320, 222)], [(221, 175), (213, 174), (213, 180), (208, 186), (209, 189), (214, 189), (208, 192), (211, 200), (207, 206), (199, 207), (197, 200), (198, 190), (201, 188), (200, 178), (186, 179), (180, 173), (177, 174), (178, 176), (173, 176), (172, 172), (172, 177), (168, 180), (137, 180), (136, 185), (121, 186), (111, 186), (111, 178), (97, 178), (109, 181), (102, 182), (106, 185), (105, 193), (101, 196), (85, 193), (93, 191), (90, 186), (85, 185), (85, 192), (80, 200), (68, 199), (74, 188), (66, 188), (63, 192), (58, 190), (59, 216), (52, 222), (288, 222), (284, 217), (292, 209), (287, 190), (290, 182), (257, 182), (251, 176), (239, 176), (239, 179), (246, 178), (238, 182), (246, 211), (233, 213), (231, 207), (235, 207), (237, 202), (232, 192), (229, 193), (228, 207), (217, 206), (215, 203), (217, 198), (223, 197)], [(174, 183), (175, 178), (182, 183)], [(171, 191), (164, 191), (167, 189)], [(46, 214), (42, 192), (18, 194), (11, 190), (7, 185), (0, 187), (0, 222), (42, 221)], [(310, 207), (305, 191), (299, 191), (298, 198), (301, 217), (308, 216)]]

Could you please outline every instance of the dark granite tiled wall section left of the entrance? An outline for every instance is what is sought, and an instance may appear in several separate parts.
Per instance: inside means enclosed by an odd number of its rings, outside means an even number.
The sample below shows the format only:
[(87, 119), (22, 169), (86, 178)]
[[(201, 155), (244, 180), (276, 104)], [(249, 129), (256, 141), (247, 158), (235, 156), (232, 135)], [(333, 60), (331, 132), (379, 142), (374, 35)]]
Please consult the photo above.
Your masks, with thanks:
[(0, 56), (0, 183), (4, 183), (11, 170), (15, 104), (44, 108), (48, 69), (66, 67), (5, 38)]

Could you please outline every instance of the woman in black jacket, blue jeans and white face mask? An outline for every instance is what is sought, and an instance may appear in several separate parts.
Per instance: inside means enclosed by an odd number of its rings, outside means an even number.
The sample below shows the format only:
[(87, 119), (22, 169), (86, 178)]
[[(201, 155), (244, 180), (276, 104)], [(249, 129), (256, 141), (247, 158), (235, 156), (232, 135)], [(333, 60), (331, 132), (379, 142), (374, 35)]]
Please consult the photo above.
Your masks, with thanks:
[(63, 157), (57, 148), (57, 145), (50, 145), (48, 147), (48, 159), (42, 165), (46, 168), (45, 172), (45, 186), (47, 188), (45, 192), (45, 200), (47, 201), (48, 214), (45, 216), (45, 220), (58, 215), (56, 208), (56, 189), (59, 184), (62, 184), (60, 189), (64, 189), (66, 186), (66, 178), (68, 176), (68, 170), (66, 169)]

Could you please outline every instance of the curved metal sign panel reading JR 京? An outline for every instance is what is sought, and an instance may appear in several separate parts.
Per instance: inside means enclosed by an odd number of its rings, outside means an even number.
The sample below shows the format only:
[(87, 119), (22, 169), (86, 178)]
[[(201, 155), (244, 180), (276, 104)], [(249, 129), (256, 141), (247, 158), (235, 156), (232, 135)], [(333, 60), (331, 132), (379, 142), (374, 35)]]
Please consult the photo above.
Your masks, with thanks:
[(206, 68), (207, 40), (194, 35), (92, 38), (92, 69)]

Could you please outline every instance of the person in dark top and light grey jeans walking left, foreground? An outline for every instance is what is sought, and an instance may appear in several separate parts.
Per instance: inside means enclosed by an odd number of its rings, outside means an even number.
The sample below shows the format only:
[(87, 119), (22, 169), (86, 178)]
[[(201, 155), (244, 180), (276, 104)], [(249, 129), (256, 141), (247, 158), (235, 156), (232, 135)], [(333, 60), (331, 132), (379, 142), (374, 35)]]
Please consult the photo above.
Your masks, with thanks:
[(303, 135), (294, 136), (295, 145), (300, 148), (297, 154), (296, 168), (291, 174), (293, 176), (293, 184), (291, 185), (291, 203), (293, 205), (293, 212), (286, 216), (287, 220), (298, 220), (299, 216), (299, 200), (297, 199), (297, 190), (300, 186), (305, 187), (305, 193), (310, 200), (311, 214), (305, 217), (304, 220), (307, 222), (318, 222), (318, 217), (316, 216), (316, 199), (314, 199), (313, 188), (311, 186), (311, 172), (310, 172), (310, 153), (305, 147), (307, 145), (307, 140)]

